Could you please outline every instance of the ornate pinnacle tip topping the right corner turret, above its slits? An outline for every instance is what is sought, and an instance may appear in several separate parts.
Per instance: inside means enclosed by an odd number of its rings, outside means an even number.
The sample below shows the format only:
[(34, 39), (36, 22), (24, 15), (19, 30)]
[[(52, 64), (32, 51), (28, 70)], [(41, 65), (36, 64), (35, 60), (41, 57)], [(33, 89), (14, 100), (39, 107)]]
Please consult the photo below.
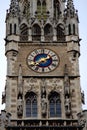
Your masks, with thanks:
[(67, 0), (67, 16), (74, 17), (75, 16), (75, 8), (73, 4), (73, 0)]

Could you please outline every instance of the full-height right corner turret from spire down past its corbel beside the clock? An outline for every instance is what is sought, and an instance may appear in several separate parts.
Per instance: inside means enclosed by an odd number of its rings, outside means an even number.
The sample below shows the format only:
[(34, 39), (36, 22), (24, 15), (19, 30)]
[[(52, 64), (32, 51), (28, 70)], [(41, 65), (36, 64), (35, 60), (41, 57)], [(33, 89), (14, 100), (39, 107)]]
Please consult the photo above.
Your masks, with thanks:
[[(71, 57), (69, 61), (73, 63), (74, 75), (79, 75), (78, 57), (80, 55), (79, 32), (78, 32), (78, 14), (74, 7), (73, 0), (67, 0), (65, 9), (65, 31), (67, 41), (67, 52)], [(75, 65), (76, 63), (76, 65)], [(77, 66), (77, 68), (76, 68)]]

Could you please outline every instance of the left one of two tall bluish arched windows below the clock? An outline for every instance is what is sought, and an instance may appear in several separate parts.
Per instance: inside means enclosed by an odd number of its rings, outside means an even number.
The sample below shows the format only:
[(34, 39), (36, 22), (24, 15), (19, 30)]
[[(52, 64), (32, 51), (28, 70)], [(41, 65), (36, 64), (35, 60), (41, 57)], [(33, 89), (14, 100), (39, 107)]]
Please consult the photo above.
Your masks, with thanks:
[(37, 97), (33, 92), (25, 96), (26, 99), (26, 117), (37, 117)]

